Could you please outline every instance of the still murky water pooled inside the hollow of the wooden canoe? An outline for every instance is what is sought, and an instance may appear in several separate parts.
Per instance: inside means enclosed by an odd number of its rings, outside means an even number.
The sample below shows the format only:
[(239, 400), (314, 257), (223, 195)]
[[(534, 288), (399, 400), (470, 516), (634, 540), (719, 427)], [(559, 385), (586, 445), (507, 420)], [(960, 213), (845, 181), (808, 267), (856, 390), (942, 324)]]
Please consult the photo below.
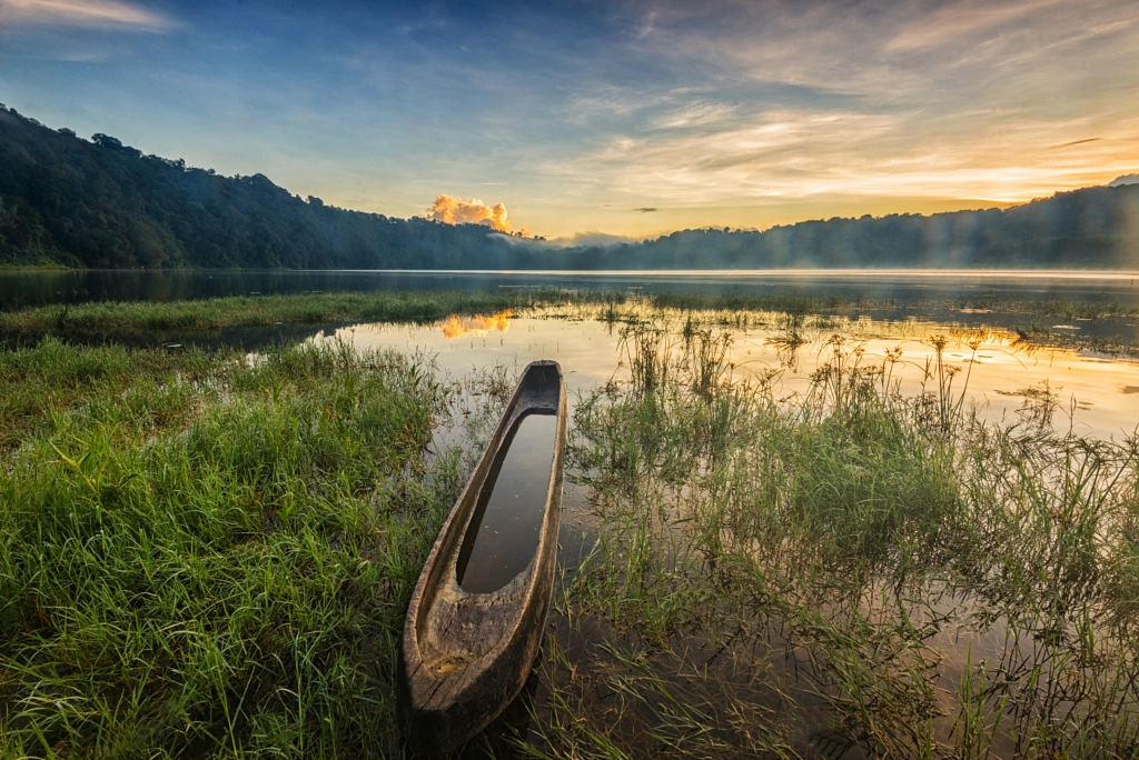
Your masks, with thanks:
[[(498, 590), (526, 569), (542, 528), (550, 485), (556, 414), (531, 412), (515, 421), (499, 449), (459, 555), (458, 580), (469, 594)], [(490, 498), (486, 493), (490, 490)]]

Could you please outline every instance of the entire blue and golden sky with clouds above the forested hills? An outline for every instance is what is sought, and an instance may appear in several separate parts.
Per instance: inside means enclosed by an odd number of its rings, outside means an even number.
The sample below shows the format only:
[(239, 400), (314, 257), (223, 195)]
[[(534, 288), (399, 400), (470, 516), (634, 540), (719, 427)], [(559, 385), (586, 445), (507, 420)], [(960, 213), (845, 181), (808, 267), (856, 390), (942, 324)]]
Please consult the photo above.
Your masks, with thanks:
[(1139, 171), (1139, 8), (0, 0), (0, 102), (390, 216), (762, 230)]

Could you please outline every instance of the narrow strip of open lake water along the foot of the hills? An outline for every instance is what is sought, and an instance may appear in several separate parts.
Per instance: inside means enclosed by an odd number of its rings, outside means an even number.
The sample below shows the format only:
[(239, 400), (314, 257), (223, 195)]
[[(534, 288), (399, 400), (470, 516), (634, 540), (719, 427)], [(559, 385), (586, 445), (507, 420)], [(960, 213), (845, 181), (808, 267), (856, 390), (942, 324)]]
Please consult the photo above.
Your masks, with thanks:
[(269, 294), (509, 288), (956, 298), (1075, 298), (1139, 304), (1139, 272), (708, 270), (672, 272), (66, 270), (0, 272), (0, 308), (89, 300), (182, 300)]

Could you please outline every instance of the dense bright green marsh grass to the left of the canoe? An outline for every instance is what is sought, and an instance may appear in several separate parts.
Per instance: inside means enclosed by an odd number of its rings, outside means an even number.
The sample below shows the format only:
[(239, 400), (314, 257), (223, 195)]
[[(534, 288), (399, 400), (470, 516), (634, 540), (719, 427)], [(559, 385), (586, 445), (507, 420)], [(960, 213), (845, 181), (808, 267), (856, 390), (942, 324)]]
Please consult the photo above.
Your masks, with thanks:
[(429, 367), (345, 345), (2, 358), (46, 393), (0, 421), (0, 754), (399, 753), (393, 647), (460, 486), (456, 452), (428, 454)]

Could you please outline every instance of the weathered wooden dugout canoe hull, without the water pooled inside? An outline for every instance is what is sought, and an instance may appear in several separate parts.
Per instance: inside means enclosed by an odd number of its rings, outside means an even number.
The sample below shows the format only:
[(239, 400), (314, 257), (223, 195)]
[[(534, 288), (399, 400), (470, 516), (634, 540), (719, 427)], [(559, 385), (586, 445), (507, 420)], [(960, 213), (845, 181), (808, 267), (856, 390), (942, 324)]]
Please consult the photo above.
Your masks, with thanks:
[[(459, 586), (498, 468), (526, 414), (557, 416), (549, 486), (530, 564), (501, 588)], [(554, 593), (566, 437), (557, 362), (530, 364), (474, 474), (443, 523), (411, 594), (400, 646), (398, 705), (413, 752), (442, 754), (485, 728), (518, 695), (541, 645)], [(528, 507), (527, 507), (528, 509)]]

